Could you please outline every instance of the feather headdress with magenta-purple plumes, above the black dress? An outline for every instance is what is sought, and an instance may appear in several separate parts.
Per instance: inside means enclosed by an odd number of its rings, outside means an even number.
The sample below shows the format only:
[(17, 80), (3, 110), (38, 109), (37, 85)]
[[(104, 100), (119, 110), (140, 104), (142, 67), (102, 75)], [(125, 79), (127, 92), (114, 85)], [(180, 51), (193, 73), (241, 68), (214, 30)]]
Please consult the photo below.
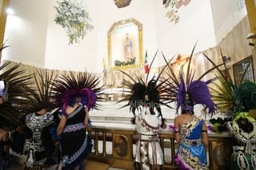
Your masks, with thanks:
[(77, 75), (70, 71), (70, 75), (58, 76), (53, 84), (54, 104), (62, 108), (62, 114), (66, 115), (66, 107), (73, 106), (76, 97), (82, 98), (82, 105), (86, 105), (88, 110), (98, 109), (96, 101), (101, 101), (98, 97), (102, 86), (101, 81), (94, 73), (79, 72)]

